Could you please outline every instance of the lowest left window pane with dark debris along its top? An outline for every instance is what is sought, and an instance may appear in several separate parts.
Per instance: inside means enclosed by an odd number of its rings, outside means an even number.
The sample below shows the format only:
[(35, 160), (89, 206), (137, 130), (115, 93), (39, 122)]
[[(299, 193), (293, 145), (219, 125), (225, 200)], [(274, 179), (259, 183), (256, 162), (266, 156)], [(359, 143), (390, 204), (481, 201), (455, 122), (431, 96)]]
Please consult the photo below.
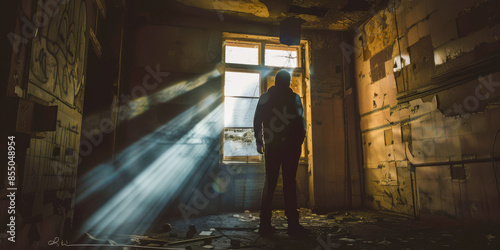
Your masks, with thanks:
[(257, 156), (253, 129), (224, 130), (224, 156)]

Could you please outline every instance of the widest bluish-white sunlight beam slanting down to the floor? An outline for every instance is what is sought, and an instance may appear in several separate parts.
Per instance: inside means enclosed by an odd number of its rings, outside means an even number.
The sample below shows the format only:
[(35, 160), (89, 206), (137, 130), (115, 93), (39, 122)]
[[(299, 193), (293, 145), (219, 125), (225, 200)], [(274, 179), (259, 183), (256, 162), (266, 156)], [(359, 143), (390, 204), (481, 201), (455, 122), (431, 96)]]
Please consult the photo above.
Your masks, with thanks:
[(147, 229), (186, 180), (206, 163), (207, 156), (213, 154), (223, 128), (222, 116), (221, 104), (94, 213), (82, 233)]

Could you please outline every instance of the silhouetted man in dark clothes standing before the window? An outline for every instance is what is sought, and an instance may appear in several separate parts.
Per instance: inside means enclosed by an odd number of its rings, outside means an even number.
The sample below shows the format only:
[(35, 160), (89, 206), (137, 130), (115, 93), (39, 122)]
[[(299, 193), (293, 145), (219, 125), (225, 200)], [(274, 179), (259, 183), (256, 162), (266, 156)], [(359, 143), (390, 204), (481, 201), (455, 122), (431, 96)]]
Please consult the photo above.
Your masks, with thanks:
[(280, 166), (288, 234), (292, 237), (307, 234), (306, 229), (299, 224), (295, 181), (306, 131), (302, 102), (290, 88), (290, 80), (290, 73), (279, 71), (276, 74), (275, 86), (262, 94), (255, 111), (254, 135), (257, 151), (265, 155), (266, 161), (266, 182), (262, 192), (259, 227), (259, 233), (263, 236), (270, 236), (275, 232), (271, 225), (271, 204)]

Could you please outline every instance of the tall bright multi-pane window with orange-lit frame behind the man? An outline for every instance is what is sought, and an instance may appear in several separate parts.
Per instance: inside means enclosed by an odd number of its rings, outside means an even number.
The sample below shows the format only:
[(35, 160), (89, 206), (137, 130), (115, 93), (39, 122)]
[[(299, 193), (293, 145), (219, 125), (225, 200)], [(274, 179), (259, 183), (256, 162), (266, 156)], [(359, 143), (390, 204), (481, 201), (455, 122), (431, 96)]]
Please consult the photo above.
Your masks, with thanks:
[(274, 85), (274, 76), (282, 68), (293, 73), (292, 90), (303, 97), (300, 52), (300, 46), (276, 42), (225, 41), (223, 160), (262, 161), (253, 134), (259, 97)]

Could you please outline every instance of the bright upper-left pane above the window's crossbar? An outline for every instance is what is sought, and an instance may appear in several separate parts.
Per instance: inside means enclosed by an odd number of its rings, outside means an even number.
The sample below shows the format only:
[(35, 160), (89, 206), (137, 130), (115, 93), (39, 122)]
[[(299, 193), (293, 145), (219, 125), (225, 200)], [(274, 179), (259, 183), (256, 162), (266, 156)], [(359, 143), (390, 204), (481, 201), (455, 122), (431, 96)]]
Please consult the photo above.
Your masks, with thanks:
[(254, 44), (226, 45), (226, 63), (259, 64), (259, 46)]

